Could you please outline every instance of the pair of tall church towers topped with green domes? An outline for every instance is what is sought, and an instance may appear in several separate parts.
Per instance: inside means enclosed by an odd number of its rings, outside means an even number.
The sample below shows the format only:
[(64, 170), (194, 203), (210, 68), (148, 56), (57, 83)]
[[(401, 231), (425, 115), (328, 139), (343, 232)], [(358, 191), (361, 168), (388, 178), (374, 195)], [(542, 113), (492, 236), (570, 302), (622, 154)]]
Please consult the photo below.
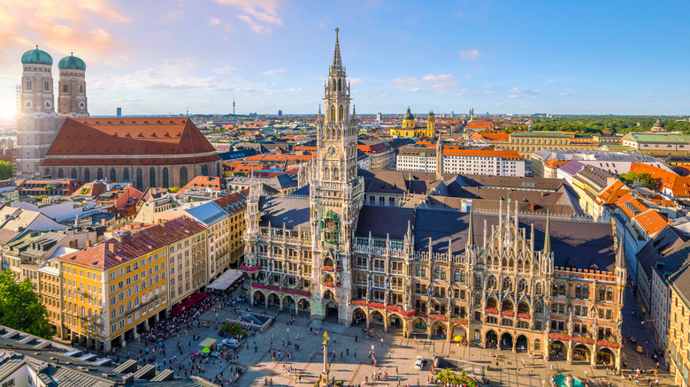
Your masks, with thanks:
[(53, 89), (50, 54), (36, 46), (21, 56), (21, 65), (17, 178), (41, 178), (41, 163), (65, 118), (88, 117), (86, 64), (73, 55), (60, 59), (58, 90)]

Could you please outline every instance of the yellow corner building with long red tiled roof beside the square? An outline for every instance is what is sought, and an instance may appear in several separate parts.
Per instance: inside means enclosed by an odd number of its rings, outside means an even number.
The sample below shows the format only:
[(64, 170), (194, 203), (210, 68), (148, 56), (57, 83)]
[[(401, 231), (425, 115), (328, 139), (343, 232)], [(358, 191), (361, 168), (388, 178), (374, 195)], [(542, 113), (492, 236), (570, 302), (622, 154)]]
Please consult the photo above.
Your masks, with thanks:
[(173, 262), (189, 268), (185, 294), (206, 285), (205, 234), (203, 224), (179, 217), (60, 257), (58, 336), (96, 351), (138, 338), (172, 306)]

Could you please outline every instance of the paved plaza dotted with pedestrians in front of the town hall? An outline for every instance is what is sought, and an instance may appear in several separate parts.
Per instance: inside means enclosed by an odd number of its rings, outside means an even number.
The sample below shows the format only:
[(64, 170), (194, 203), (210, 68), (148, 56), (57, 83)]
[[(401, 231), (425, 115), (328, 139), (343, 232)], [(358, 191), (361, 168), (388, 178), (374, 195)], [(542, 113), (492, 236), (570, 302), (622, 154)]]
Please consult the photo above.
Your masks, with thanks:
[[(649, 345), (643, 345), (645, 350), (650, 352), (655, 349), (652, 344), (651, 334), (647, 330), (647, 326), (640, 323), (637, 317), (632, 317), (632, 310), (640, 312), (636, 300), (632, 297), (630, 289), (626, 292), (625, 299), (625, 319), (623, 325), (623, 334), (625, 337), (634, 336), (639, 343), (643, 342), (645, 338), (649, 338)], [(246, 308), (247, 306), (244, 305)], [(363, 339), (363, 326), (345, 327), (334, 322), (320, 322), (311, 321), (303, 315), (295, 318), (292, 325), (288, 325), (289, 313), (278, 314), (275, 309), (265, 308), (251, 308), (252, 312), (261, 313), (266, 311), (268, 315), (277, 315), (276, 322), (266, 330), (263, 334), (256, 333), (251, 336), (247, 343), (235, 353), (238, 355), (236, 361), (230, 364), (223, 362), (222, 369), (220, 362), (217, 360), (215, 364), (209, 363), (205, 367), (205, 372), (202, 376), (212, 378), (216, 373), (225, 371), (224, 380), (230, 382), (231, 368), (237, 365), (244, 368), (244, 373), (240, 379), (233, 385), (237, 386), (256, 386), (263, 385), (265, 378), (272, 379), (274, 386), (292, 386), (303, 385), (311, 386), (317, 380), (318, 376), (323, 370), (323, 352), (321, 348), (321, 341), (323, 340), (323, 330), (326, 330), (329, 335), (328, 345), (328, 360), (333, 360), (330, 355), (335, 350), (335, 360), (330, 365), (330, 375), (334, 376), (336, 380), (342, 381), (345, 385), (358, 384), (364, 381), (364, 376), (369, 376), (370, 380), (372, 373), (379, 369), (388, 373), (388, 380), (381, 380), (376, 383), (368, 385), (377, 386), (395, 386), (401, 385), (411, 386), (430, 385), (427, 383), (427, 377), (430, 376), (429, 367), (424, 370), (417, 370), (413, 367), (414, 360), (417, 356), (424, 356), (431, 360), (434, 355), (441, 355), (452, 359), (467, 360), (484, 365), (495, 364), (498, 360), (498, 368), (491, 367), (487, 371), (487, 377), (490, 385), (494, 386), (548, 386), (549, 378), (552, 373), (550, 366), (553, 365), (555, 369), (563, 373), (571, 373), (573, 376), (582, 378), (586, 375), (590, 379), (597, 382), (613, 383), (617, 386), (632, 386), (634, 382), (625, 379), (625, 384), (620, 379), (620, 376), (609, 376), (602, 368), (593, 368), (584, 362), (576, 362), (568, 364), (566, 361), (548, 361), (540, 358), (529, 359), (525, 353), (511, 353), (510, 351), (493, 351), (497, 358), (491, 361), (489, 354), (490, 350), (485, 350), (474, 346), (460, 346), (456, 343), (447, 343), (443, 339), (418, 339), (417, 342), (413, 338), (403, 338), (401, 330), (391, 329), (388, 332), (383, 332), (382, 327), (374, 326), (374, 330), (384, 338), (383, 344), (375, 339)], [(227, 318), (233, 316), (232, 308), (225, 307), (219, 309), (218, 321), (225, 321)], [(182, 354), (178, 352), (178, 360), (189, 360), (196, 351), (196, 345), (204, 338), (219, 338), (218, 329), (220, 323), (216, 323), (216, 316), (207, 311), (202, 315), (204, 321), (211, 322), (211, 328), (202, 330), (201, 337), (198, 340), (192, 340), (194, 331), (189, 332), (188, 337), (180, 338), (182, 344)], [(323, 328), (322, 328), (323, 327)], [(295, 350), (295, 334), (299, 333), (300, 338), (297, 343), (300, 345), (298, 351)], [(273, 345), (271, 345), (271, 337), (273, 336)], [(357, 343), (355, 342), (357, 336)], [(282, 341), (286, 341), (286, 345), (282, 345)], [(288, 345), (288, 341), (290, 345)], [(165, 342), (165, 347), (170, 350), (175, 349), (178, 339), (171, 338)], [(191, 346), (189, 346), (191, 343)], [(257, 349), (255, 351), (255, 343)], [(249, 346), (248, 346), (249, 345)], [(373, 351), (378, 360), (378, 367), (373, 367), (372, 360), (367, 357), (370, 351)], [(138, 350), (143, 350), (142, 342), (128, 343), (125, 349), (118, 349), (114, 356), (119, 356), (120, 361), (126, 359), (126, 352), (129, 352), (132, 357)], [(293, 359), (288, 360), (287, 352), (294, 353)], [(272, 353), (276, 353), (276, 360), (272, 360)], [(341, 360), (342, 353), (342, 360)], [(389, 354), (390, 353), (390, 354)], [(655, 365), (652, 360), (645, 357), (643, 354), (636, 353), (632, 345), (625, 345), (624, 349), (625, 360), (628, 363), (628, 369), (625, 370), (625, 375), (630, 374), (630, 367), (647, 367), (652, 369)], [(168, 353), (171, 355), (171, 353)], [(113, 357), (114, 357), (113, 356)], [(157, 356), (158, 363), (162, 362), (163, 357)], [(523, 360), (525, 361), (523, 366)], [(298, 375), (301, 375), (301, 381), (295, 380), (295, 376), (288, 376), (288, 372), (283, 370), (283, 363), (286, 366), (295, 368)], [(519, 370), (518, 370), (519, 368)], [(671, 376), (665, 372), (665, 368), (659, 374), (660, 385), (673, 385)], [(399, 372), (396, 372), (395, 370)], [(176, 370), (176, 372), (178, 372)], [(640, 385), (648, 385), (647, 378), (644, 377), (640, 381)], [(225, 384), (225, 383), (224, 383)]]

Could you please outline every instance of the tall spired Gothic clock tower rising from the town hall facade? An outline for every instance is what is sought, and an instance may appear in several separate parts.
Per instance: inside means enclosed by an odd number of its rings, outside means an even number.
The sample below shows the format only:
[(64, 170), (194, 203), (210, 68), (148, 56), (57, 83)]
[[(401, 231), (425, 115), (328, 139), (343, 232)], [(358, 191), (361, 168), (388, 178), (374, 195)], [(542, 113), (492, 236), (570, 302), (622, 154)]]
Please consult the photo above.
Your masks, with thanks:
[(350, 86), (337, 28), (324, 89), (326, 114), (322, 116), (319, 108), (318, 152), (310, 184), (312, 286), (322, 297), (312, 303), (311, 311), (324, 317), (337, 312), (338, 321), (348, 323), (350, 256), (364, 203), (364, 180), (357, 177), (357, 121), (354, 109), (351, 114), (349, 110)]

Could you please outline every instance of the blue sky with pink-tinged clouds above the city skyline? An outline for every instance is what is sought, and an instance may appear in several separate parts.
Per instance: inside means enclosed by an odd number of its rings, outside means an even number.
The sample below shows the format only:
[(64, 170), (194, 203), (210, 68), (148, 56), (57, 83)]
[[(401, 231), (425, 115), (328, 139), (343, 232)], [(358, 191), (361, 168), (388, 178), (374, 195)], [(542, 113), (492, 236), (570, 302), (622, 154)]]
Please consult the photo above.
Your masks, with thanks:
[[(36, 44), (91, 115), (314, 114), (336, 27), (358, 114), (690, 114), (686, 1), (0, 0), (0, 118)], [(58, 80), (54, 80), (57, 86)]]

